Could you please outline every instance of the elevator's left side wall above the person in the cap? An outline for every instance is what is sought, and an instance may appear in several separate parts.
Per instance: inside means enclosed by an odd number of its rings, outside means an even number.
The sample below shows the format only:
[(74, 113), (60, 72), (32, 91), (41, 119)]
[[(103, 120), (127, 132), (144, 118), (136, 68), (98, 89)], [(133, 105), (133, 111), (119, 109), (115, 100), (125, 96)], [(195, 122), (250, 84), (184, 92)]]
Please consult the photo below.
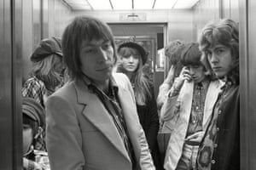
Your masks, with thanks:
[(61, 37), (69, 19), (70, 8), (61, 0), (26, 0), (22, 3), (23, 82), (32, 68), (30, 56), (46, 37)]

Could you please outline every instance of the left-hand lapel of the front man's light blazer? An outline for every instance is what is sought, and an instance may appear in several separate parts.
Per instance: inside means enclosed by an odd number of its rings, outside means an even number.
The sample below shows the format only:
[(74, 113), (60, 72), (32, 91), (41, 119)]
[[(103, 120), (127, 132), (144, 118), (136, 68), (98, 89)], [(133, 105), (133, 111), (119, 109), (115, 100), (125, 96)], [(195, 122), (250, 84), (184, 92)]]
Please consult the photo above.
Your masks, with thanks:
[(104, 105), (96, 94), (88, 91), (83, 82), (75, 82), (79, 104), (85, 105), (83, 115), (91, 122), (113, 146), (119, 150), (128, 160), (130, 160), (125, 144), (121, 139), (117, 128), (113, 123), (113, 118), (109, 115)]

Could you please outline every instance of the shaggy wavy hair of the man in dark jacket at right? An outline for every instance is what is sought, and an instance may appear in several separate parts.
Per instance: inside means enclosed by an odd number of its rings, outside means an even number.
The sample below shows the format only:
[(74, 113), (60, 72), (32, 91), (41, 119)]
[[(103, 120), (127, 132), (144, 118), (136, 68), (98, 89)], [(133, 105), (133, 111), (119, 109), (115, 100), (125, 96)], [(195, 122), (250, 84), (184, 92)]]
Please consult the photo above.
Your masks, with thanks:
[(239, 31), (238, 24), (234, 20), (224, 19), (218, 22), (210, 22), (202, 29), (199, 45), (204, 53), (202, 56), (205, 56), (205, 59), (202, 60), (206, 61), (207, 65), (209, 65), (207, 59), (208, 48), (218, 44), (230, 48), (234, 65), (228, 77), (235, 78), (236, 83), (239, 83)]

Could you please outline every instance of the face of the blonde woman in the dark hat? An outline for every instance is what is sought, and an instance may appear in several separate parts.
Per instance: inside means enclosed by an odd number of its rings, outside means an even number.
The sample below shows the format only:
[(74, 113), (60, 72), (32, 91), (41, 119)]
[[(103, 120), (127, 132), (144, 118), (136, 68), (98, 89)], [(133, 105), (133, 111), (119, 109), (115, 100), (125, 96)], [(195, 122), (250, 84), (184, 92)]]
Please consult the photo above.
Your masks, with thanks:
[(140, 59), (142, 58), (141, 54), (138, 53), (135, 48), (120, 48), (119, 57), (121, 61), (121, 65), (128, 72), (137, 71), (137, 67), (140, 63)]

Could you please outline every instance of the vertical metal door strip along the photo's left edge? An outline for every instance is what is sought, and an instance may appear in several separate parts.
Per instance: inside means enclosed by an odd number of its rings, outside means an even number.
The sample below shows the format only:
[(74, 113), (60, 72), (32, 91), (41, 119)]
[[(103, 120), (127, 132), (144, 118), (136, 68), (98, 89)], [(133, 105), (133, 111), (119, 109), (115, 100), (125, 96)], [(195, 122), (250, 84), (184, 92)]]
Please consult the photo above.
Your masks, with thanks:
[[(4, 134), (13, 129), (12, 96), (11, 96), (11, 13), (10, 0), (0, 2), (0, 133)], [(1, 159), (0, 169), (12, 169), (13, 138), (7, 135), (0, 139)]]

